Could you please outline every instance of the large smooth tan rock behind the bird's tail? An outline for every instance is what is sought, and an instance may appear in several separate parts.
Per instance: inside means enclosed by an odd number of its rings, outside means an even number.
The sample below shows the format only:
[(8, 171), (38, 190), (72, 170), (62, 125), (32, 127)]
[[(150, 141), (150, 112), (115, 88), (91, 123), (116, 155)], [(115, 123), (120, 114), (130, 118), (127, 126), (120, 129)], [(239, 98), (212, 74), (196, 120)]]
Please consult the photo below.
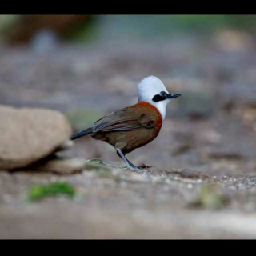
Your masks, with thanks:
[(20, 168), (54, 152), (70, 138), (66, 117), (55, 110), (0, 106), (0, 169)]

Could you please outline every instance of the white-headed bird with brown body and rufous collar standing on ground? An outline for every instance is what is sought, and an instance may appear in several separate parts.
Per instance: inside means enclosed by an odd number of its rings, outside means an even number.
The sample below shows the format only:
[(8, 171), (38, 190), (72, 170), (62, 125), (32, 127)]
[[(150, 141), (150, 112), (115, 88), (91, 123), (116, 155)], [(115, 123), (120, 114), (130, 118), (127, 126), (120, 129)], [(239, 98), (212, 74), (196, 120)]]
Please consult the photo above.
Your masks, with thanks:
[(163, 82), (151, 75), (138, 83), (138, 102), (132, 106), (106, 114), (86, 130), (71, 135), (71, 140), (91, 135), (92, 138), (114, 146), (126, 164), (126, 169), (138, 171), (126, 154), (152, 142), (159, 134), (166, 118), (166, 106), (172, 98)]

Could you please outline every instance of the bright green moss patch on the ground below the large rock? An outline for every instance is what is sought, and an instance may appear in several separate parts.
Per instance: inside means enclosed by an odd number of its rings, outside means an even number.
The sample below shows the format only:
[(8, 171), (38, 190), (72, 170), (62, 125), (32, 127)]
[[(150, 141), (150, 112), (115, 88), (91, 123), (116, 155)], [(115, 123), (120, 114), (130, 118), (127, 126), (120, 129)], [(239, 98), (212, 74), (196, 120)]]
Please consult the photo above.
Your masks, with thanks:
[(33, 186), (27, 195), (27, 201), (34, 202), (41, 200), (42, 198), (55, 197), (60, 195), (73, 198), (74, 194), (75, 191), (73, 186), (70, 186), (66, 182), (53, 182), (48, 185)]

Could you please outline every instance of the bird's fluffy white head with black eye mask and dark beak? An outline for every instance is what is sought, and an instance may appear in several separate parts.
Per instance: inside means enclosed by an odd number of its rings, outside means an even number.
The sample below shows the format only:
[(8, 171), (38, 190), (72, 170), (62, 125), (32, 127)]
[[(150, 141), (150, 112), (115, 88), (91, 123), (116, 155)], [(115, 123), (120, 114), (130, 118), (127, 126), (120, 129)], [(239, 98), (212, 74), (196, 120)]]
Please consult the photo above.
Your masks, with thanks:
[(149, 102), (155, 106), (162, 115), (162, 120), (166, 118), (166, 106), (171, 98), (177, 98), (180, 94), (170, 94), (166, 86), (159, 78), (151, 75), (142, 79), (138, 84), (138, 101)]

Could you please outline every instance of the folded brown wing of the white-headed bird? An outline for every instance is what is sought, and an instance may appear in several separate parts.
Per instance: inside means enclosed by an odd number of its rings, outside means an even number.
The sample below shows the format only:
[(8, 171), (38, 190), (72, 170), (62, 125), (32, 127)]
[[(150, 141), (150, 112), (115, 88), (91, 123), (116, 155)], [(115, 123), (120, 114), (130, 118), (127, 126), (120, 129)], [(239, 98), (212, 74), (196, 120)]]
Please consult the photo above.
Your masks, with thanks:
[(154, 121), (139, 111), (134, 111), (134, 106), (114, 111), (94, 123), (94, 133), (110, 131), (130, 131), (140, 128), (154, 128)]

